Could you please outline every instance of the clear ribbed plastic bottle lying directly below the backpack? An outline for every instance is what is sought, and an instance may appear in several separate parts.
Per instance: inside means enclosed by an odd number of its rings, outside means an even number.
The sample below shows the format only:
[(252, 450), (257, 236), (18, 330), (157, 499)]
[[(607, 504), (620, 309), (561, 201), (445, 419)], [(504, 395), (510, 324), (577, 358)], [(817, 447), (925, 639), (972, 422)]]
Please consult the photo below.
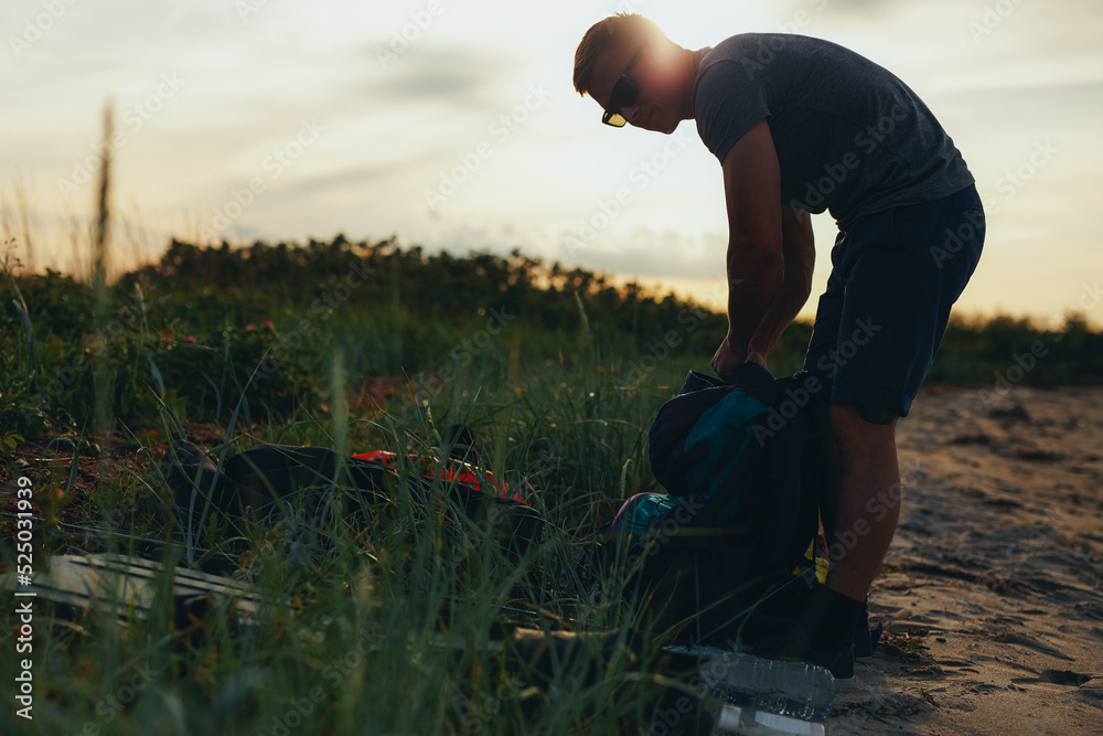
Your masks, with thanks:
[(698, 687), (722, 703), (805, 721), (822, 721), (831, 713), (835, 679), (825, 668), (768, 660), (715, 647), (668, 647), (667, 650), (697, 655), (702, 660)]

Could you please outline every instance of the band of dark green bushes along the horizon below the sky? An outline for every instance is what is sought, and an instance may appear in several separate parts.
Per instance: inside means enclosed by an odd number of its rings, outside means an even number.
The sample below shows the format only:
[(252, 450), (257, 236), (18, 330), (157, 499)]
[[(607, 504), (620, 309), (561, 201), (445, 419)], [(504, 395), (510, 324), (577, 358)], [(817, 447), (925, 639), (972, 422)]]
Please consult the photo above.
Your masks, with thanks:
[[(635, 390), (662, 383), (656, 365), (663, 382), (686, 366), (707, 370), (726, 327), (673, 296), (617, 289), (517, 252), (458, 258), (340, 236), (242, 249), (173, 242), (159, 264), (108, 288), (103, 324), (94, 323), (92, 287), (56, 271), (9, 276), (0, 297), (0, 422), (28, 438), (82, 426), (96, 360), (116, 416), (130, 426), (157, 425), (162, 403), (182, 420), (224, 419), (243, 388), (254, 418), (286, 420), (324, 404), (335, 355), (351, 388), (396, 376), (436, 394), (550, 361)], [(800, 369), (810, 333), (806, 323), (790, 327), (771, 356), (775, 374)], [(1036, 360), (1016, 362), (1028, 355)], [(1028, 370), (1014, 369), (1024, 362)], [(1002, 377), (1097, 382), (1103, 334), (1079, 317), (1059, 331), (1010, 318), (954, 321), (928, 385), (995, 386)]]

